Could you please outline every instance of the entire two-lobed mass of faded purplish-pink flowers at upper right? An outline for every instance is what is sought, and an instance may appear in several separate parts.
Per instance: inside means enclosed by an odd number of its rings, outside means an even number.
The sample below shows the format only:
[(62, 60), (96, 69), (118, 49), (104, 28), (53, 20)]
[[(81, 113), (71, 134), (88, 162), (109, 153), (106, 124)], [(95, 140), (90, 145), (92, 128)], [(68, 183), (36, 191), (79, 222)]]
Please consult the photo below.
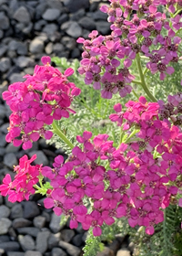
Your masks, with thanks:
[(138, 53), (147, 57), (147, 69), (152, 74), (159, 72), (160, 80), (174, 73), (170, 64), (180, 57), (181, 38), (176, 34), (182, 27), (180, 15), (167, 21), (166, 14), (157, 11), (158, 5), (167, 5), (168, 12), (174, 13), (180, 5), (177, 1), (110, 2), (110, 7), (102, 5), (101, 11), (108, 14), (108, 22), (112, 23), (111, 35), (98, 36), (94, 30), (88, 36), (90, 39), (77, 39), (84, 47), (78, 71), (85, 74), (86, 84), (93, 83), (94, 89), (101, 90), (101, 96), (106, 99), (116, 92), (125, 97), (132, 91), (130, 83), (135, 76), (129, 68)]

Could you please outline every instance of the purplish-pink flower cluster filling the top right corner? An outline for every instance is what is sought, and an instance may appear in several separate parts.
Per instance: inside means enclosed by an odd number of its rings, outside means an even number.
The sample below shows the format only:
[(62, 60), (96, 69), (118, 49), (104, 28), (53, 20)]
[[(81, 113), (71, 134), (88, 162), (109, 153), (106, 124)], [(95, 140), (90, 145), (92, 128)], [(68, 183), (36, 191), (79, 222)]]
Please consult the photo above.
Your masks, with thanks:
[[(175, 70), (168, 66), (170, 62), (178, 61), (178, 45), (180, 37), (176, 37), (176, 32), (182, 27), (181, 16), (177, 15), (167, 21), (165, 13), (157, 11), (158, 5), (167, 5), (169, 13), (174, 13), (178, 1), (110, 1), (110, 7), (101, 6), (101, 11), (108, 14), (108, 21), (113, 23), (111, 29), (112, 36), (122, 35), (122, 41), (127, 47), (136, 52), (143, 53), (150, 59), (147, 69), (154, 74), (160, 73), (160, 80), (166, 78), (166, 74), (171, 75)], [(122, 11), (123, 7), (124, 11)], [(136, 14), (132, 15), (132, 12)], [(128, 17), (131, 16), (129, 19)], [(162, 36), (162, 29), (167, 30), (167, 36)], [(174, 29), (174, 30), (173, 30)], [(164, 35), (164, 33), (163, 33)], [(156, 49), (153, 49), (153, 48)]]

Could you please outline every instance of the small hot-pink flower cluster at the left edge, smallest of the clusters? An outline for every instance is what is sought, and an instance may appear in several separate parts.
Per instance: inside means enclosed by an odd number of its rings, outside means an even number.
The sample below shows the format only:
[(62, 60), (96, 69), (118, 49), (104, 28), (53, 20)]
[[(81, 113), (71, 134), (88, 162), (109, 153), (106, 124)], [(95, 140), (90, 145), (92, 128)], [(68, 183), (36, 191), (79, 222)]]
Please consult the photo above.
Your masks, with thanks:
[(33, 155), (30, 160), (28, 160), (27, 155), (24, 155), (20, 158), (19, 165), (14, 168), (15, 179), (12, 181), (9, 174), (3, 179), (0, 193), (4, 197), (8, 196), (10, 202), (28, 200), (30, 195), (35, 194), (34, 185), (38, 182), (42, 168), (42, 165), (31, 165), (35, 159), (36, 155)]

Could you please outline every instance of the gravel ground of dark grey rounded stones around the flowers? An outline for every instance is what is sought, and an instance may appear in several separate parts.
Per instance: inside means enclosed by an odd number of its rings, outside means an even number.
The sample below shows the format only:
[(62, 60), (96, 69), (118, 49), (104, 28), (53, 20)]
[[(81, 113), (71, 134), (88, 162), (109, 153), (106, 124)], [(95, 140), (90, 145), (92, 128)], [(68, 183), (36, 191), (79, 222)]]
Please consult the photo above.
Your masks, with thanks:
[[(36, 164), (52, 165), (58, 154), (44, 139), (31, 150), (22, 151), (5, 142), (8, 116), (11, 113), (2, 99), (2, 92), (15, 81), (32, 74), (44, 55), (79, 59), (81, 46), (77, 37), (87, 37), (97, 29), (109, 33), (106, 14), (99, 11), (106, 1), (89, 0), (0, 0), (0, 179), (12, 177), (13, 165), (22, 155), (37, 157)], [(79, 256), (86, 240), (81, 226), (69, 229), (60, 226), (60, 217), (43, 207), (43, 197), (12, 204), (0, 196), (0, 256)], [(97, 256), (129, 256), (133, 244), (117, 237)], [(93, 255), (94, 256), (94, 255)]]

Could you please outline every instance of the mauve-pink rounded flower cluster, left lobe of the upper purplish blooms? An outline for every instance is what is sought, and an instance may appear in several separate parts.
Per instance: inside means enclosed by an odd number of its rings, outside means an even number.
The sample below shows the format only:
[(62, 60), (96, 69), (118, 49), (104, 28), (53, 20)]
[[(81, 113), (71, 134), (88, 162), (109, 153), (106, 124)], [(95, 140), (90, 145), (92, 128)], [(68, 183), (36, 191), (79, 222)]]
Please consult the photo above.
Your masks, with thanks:
[[(111, 99), (116, 92), (119, 92), (121, 97), (125, 97), (131, 92), (129, 83), (135, 78), (128, 70), (132, 64), (131, 59), (135, 59), (135, 53), (131, 48), (122, 46), (118, 37), (97, 37), (97, 35), (98, 32), (94, 30), (88, 36), (90, 40), (81, 37), (77, 39), (78, 43), (83, 43), (85, 49), (78, 71), (80, 74), (86, 74), (86, 84), (93, 83), (95, 90), (100, 90), (102, 84), (103, 98)], [(124, 59), (126, 56), (128, 58), (125, 59), (122, 68), (119, 59)]]

